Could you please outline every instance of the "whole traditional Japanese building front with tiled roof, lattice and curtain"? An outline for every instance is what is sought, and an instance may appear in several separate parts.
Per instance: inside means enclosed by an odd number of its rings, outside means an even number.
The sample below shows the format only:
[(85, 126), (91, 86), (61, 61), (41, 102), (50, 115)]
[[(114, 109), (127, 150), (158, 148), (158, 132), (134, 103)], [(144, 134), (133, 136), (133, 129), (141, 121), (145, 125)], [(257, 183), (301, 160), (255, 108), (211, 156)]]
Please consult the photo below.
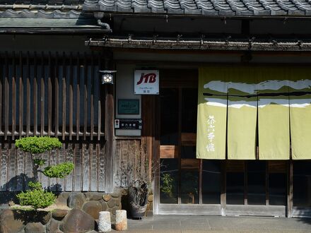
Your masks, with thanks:
[(15, 138), (49, 135), (64, 191), (146, 165), (154, 214), (311, 215), (309, 3), (55, 4), (0, 6), (3, 191), (31, 173)]

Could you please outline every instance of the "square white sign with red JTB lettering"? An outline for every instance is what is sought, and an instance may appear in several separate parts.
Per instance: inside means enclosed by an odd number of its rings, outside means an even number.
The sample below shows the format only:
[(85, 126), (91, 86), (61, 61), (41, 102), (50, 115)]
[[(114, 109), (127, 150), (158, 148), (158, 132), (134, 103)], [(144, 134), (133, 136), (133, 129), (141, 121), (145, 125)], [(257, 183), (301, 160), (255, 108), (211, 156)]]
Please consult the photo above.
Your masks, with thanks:
[(134, 73), (135, 95), (159, 95), (159, 71), (136, 70)]

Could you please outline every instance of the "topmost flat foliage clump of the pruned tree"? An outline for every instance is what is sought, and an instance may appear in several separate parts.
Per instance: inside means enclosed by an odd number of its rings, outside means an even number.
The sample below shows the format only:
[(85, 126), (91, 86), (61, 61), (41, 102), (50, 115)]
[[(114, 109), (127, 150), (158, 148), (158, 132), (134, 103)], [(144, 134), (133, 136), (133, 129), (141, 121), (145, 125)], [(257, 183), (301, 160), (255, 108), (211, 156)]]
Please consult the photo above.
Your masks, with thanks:
[(45, 153), (54, 148), (61, 148), (61, 142), (58, 138), (50, 137), (25, 137), (15, 141), (17, 148), (31, 154)]

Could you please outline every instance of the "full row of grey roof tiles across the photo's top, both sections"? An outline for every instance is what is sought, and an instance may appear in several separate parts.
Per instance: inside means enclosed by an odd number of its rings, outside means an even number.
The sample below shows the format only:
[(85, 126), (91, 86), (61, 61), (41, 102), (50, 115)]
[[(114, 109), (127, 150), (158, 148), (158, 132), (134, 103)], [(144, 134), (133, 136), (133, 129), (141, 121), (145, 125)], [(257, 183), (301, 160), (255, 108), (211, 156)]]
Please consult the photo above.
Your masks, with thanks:
[(76, 18), (82, 10), (204, 16), (311, 16), (311, 0), (0, 0), (2, 18)]

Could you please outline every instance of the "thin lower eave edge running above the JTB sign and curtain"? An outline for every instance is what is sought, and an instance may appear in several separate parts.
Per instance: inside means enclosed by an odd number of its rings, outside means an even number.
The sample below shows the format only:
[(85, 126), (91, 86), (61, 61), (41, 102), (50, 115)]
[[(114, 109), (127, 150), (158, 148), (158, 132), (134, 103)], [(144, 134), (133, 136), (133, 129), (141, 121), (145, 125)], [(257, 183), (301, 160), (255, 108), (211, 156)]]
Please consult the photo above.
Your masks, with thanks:
[(92, 47), (110, 47), (124, 49), (168, 49), (168, 50), (205, 50), (205, 51), (277, 51), (277, 52), (311, 52), (311, 40), (156, 40), (156, 39), (131, 39), (105, 37), (92, 39), (85, 42)]

